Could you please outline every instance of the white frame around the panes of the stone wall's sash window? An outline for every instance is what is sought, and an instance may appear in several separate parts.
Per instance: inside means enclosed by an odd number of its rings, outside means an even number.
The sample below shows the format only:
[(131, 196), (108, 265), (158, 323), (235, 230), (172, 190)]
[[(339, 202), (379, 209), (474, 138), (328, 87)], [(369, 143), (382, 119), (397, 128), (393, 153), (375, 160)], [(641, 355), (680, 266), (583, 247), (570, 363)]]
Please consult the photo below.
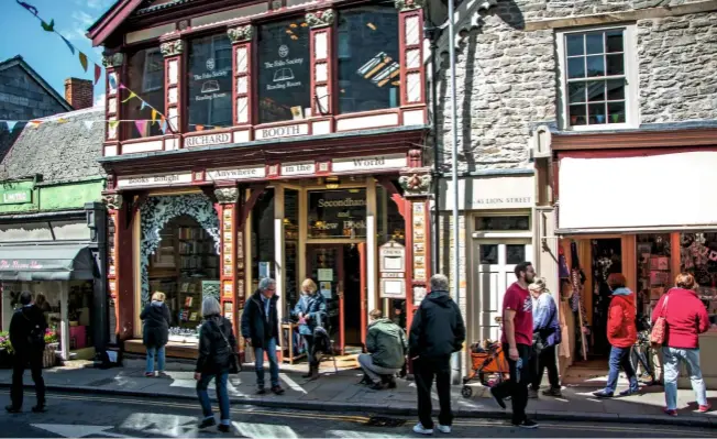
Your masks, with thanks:
[[(571, 125), (570, 123), (570, 98), (567, 96), (567, 47), (565, 40), (569, 35), (586, 34), (592, 32), (607, 32), (621, 30), (624, 32), (622, 56), (625, 75), (602, 76), (589, 78), (585, 81), (609, 80), (610, 78), (625, 78), (625, 123), (596, 123), (585, 125)], [(613, 131), (635, 129), (640, 125), (640, 102), (639, 102), (639, 76), (637, 59), (637, 25), (635, 23), (609, 25), (609, 26), (591, 26), (562, 30), (555, 32), (555, 47), (558, 58), (559, 80), (559, 123), (565, 131)], [(607, 68), (607, 67), (606, 67)], [(606, 97), (607, 99), (607, 97)], [(588, 102), (586, 102), (586, 106)]]

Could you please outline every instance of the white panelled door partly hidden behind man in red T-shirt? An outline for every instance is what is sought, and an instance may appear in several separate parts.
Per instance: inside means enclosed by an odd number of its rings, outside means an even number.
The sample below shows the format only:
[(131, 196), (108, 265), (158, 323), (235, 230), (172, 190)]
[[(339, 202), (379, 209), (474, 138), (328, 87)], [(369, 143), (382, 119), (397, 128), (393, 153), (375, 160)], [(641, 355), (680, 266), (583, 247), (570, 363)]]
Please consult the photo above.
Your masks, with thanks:
[(516, 265), (529, 260), (532, 254), (530, 240), (477, 240), (474, 241), (475, 272), (473, 284), (472, 342), (484, 339), (498, 340), (503, 296), (516, 282)]

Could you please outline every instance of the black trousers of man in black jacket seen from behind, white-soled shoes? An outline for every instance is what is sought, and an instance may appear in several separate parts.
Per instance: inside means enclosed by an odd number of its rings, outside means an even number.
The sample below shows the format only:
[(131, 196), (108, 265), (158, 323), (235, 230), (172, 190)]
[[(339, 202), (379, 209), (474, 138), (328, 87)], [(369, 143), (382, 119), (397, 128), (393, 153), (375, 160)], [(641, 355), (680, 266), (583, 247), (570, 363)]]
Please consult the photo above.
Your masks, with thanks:
[(442, 426), (450, 426), (453, 422), (453, 413), (451, 411), (451, 356), (419, 356), (413, 365), (416, 367), (416, 391), (418, 392), (418, 419), (423, 428), (433, 428), (431, 386), (433, 385), (433, 377), (435, 377), (435, 391), (441, 407), (438, 421)]

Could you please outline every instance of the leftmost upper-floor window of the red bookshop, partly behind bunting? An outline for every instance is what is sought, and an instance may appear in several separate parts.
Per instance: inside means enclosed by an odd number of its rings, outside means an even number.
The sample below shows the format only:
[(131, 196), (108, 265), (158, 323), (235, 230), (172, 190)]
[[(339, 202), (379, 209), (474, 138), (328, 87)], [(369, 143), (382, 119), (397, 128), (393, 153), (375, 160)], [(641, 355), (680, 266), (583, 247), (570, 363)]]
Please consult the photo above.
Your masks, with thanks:
[[(142, 100), (165, 113), (164, 106), (164, 57), (159, 47), (137, 51), (129, 57), (125, 89), (121, 90), (122, 100), (133, 91)], [(122, 103), (123, 120), (122, 132), (125, 139), (140, 139), (150, 135), (162, 135), (159, 123), (134, 123), (135, 120), (152, 121), (152, 108), (142, 103), (141, 99), (130, 99)], [(140, 129), (143, 132), (140, 132)]]

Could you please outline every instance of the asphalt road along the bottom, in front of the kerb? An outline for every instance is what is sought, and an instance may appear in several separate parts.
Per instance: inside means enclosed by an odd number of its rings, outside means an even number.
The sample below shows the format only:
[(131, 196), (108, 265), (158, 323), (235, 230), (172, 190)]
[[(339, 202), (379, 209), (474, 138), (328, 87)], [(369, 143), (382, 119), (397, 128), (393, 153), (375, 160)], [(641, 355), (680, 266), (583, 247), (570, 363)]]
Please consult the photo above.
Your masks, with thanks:
[[(8, 392), (0, 392), (8, 400)], [(5, 403), (2, 405), (4, 406)], [(48, 411), (33, 414), (34, 395), (25, 395), (24, 411), (0, 413), (0, 437), (125, 438), (125, 437), (247, 437), (247, 438), (402, 438), (418, 437), (412, 418), (376, 418), (371, 414), (331, 414), (233, 406), (233, 435), (199, 431), (198, 405), (187, 400), (48, 394)], [(433, 436), (446, 436), (438, 431)], [(457, 419), (452, 437), (536, 438), (688, 438), (712, 437), (704, 428), (545, 421), (536, 430), (517, 429), (506, 421)]]

